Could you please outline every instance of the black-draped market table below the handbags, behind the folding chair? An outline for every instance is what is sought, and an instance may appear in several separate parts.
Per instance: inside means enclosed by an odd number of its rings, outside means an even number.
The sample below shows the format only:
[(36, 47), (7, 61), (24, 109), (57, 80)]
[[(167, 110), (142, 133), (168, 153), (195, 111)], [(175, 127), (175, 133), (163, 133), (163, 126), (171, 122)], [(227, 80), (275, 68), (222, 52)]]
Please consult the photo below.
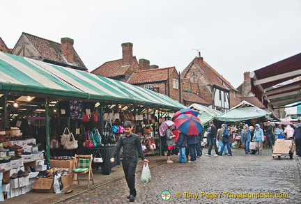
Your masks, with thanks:
[(50, 155), (52, 157), (56, 156), (75, 156), (77, 155), (95, 155), (97, 150), (100, 151), (100, 155), (102, 155), (103, 162), (98, 163), (102, 168), (102, 174), (109, 175), (111, 173), (111, 168), (116, 165), (120, 165), (120, 154), (117, 154), (115, 158), (115, 162), (111, 163), (109, 159), (111, 159), (111, 155), (114, 152), (116, 146), (102, 146), (97, 148), (77, 148), (74, 150), (65, 150), (65, 149), (50, 149)]

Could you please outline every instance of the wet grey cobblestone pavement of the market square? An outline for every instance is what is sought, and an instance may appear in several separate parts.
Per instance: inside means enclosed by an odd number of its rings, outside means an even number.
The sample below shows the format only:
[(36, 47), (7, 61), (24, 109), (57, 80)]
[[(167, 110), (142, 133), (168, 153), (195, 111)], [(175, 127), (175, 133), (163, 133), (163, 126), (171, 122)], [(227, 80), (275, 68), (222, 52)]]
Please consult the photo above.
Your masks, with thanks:
[[(241, 149), (234, 149), (232, 157), (206, 157), (207, 150), (203, 153), (195, 163), (165, 163), (151, 168), (152, 180), (146, 185), (137, 172), (135, 203), (301, 203), (295, 156), (273, 159), (268, 148), (263, 156), (245, 156)], [(169, 201), (161, 198), (164, 190), (171, 193)], [(263, 198), (241, 198), (247, 194)], [(275, 198), (286, 194), (288, 198)], [(121, 178), (62, 203), (130, 203), (127, 196), (128, 186)]]

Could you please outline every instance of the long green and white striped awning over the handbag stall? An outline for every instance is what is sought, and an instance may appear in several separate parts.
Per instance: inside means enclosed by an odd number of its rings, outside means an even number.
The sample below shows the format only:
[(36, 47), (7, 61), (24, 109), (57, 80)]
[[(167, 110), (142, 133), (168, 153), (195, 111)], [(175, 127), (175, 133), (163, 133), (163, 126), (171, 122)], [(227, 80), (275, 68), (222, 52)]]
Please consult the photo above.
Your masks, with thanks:
[(0, 91), (121, 102), (177, 111), (185, 106), (167, 95), (89, 72), (0, 52)]

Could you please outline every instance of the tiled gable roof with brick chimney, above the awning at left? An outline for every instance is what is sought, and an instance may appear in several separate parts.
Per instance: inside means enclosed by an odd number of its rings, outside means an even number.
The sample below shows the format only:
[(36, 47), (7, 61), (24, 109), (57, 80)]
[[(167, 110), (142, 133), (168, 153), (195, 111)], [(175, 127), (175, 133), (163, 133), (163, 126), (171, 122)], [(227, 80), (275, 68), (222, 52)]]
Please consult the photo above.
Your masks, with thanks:
[(79, 58), (73, 44), (74, 40), (70, 38), (61, 38), (60, 44), (23, 32), (13, 48), (12, 54), (61, 65), (66, 68), (87, 71), (88, 69), (82, 59)]

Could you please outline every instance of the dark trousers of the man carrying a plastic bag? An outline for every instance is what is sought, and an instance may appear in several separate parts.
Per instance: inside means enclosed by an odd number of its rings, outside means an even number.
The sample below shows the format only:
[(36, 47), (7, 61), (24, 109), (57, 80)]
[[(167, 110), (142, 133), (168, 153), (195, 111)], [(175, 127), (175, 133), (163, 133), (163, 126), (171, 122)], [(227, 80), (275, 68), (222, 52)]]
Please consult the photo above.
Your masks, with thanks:
[(137, 191), (134, 187), (135, 172), (137, 167), (137, 158), (136, 157), (126, 157), (123, 158), (123, 172), (125, 173), (125, 180), (128, 183), (130, 189), (130, 195), (136, 196)]

